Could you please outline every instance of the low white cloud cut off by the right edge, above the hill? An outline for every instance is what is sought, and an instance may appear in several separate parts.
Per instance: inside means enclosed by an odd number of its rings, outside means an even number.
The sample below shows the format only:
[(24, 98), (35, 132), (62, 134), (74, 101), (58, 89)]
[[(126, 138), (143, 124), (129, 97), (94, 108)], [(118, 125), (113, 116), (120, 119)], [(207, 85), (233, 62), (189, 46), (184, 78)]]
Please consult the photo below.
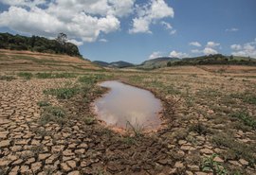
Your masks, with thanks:
[(247, 44), (232, 44), (230, 48), (233, 50), (232, 55), (256, 58), (256, 38)]

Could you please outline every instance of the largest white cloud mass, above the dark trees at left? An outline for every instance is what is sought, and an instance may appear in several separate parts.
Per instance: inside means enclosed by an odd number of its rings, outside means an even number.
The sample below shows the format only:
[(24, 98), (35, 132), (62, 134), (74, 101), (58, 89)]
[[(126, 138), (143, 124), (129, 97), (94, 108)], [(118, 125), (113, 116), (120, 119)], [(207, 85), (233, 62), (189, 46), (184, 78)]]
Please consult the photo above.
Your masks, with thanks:
[(0, 26), (46, 37), (64, 32), (72, 40), (94, 42), (101, 33), (117, 31), (119, 19), (133, 12), (135, 1), (1, 0), (9, 9), (0, 13)]

